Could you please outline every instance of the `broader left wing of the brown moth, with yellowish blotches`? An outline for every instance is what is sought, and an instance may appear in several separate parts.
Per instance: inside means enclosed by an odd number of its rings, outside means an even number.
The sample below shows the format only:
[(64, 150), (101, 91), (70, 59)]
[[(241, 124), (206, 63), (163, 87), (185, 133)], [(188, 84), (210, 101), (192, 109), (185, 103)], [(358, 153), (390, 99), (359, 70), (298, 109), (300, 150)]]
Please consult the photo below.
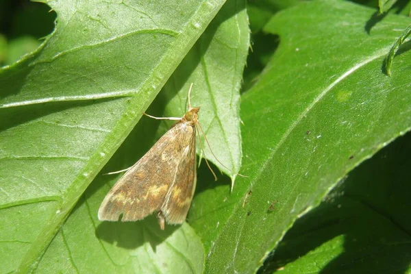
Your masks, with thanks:
[(186, 147), (192, 145), (192, 132), (177, 123), (132, 166), (108, 192), (99, 208), (101, 221), (136, 221), (160, 210)]

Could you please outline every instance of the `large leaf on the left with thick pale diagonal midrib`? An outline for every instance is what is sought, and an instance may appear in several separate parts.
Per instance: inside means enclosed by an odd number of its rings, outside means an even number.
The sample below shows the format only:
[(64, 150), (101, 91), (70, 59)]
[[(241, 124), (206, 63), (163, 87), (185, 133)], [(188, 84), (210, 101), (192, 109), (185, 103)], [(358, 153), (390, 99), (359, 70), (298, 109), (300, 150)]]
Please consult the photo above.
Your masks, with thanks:
[(58, 13), (53, 34), (0, 71), (5, 272), (36, 268), (224, 1), (47, 3)]

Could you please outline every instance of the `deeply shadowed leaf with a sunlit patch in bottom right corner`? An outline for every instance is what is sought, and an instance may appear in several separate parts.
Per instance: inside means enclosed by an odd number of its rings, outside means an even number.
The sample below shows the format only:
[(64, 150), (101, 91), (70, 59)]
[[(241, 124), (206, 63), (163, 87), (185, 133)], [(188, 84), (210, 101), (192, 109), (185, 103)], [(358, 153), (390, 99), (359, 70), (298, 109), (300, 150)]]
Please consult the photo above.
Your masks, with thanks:
[(349, 173), (287, 232), (264, 273), (408, 273), (411, 134)]

